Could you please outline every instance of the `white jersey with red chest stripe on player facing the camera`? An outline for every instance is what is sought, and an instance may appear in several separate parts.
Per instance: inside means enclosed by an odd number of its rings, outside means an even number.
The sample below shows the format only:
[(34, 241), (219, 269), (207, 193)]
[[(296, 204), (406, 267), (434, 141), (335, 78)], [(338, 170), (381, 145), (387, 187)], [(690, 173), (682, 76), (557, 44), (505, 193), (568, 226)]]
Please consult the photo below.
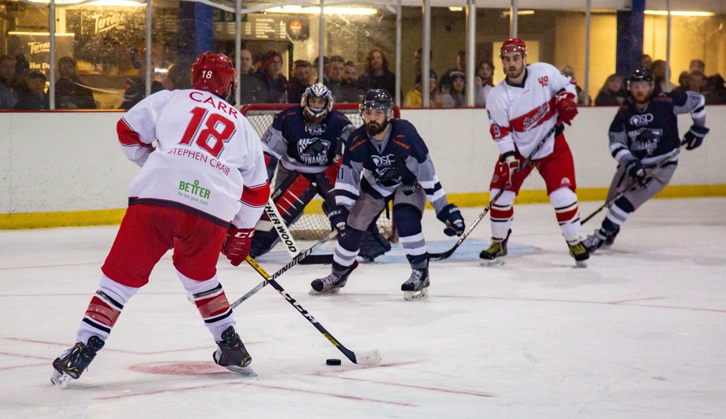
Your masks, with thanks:
[[(521, 155), (529, 157), (557, 123), (555, 96), (563, 89), (576, 94), (574, 79), (546, 62), (527, 65), (521, 85), (508, 84), (505, 78), (494, 86), (486, 98), (486, 110), (501, 154), (514, 151), (516, 145)], [(555, 147), (553, 132), (534, 160), (550, 155)]]

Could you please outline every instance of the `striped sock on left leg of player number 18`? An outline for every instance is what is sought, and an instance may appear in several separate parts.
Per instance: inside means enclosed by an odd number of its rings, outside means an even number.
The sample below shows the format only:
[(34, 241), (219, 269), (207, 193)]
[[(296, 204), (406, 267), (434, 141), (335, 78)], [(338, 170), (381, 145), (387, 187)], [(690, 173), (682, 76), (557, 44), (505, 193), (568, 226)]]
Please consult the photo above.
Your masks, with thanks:
[(99, 288), (91, 297), (81, 326), (78, 328), (76, 342), (86, 343), (91, 336), (97, 336), (105, 341), (118, 320), (118, 316), (121, 315), (123, 306), (137, 290), (139, 288), (121, 285), (102, 274)]

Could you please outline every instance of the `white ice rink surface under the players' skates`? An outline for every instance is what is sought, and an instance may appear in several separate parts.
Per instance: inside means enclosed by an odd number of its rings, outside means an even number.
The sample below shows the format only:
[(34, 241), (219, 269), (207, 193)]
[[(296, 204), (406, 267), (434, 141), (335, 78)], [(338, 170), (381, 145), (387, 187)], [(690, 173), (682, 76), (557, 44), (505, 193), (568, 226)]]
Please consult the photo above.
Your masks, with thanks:
[[(478, 263), (487, 217), (432, 262), (425, 301), (403, 299), (399, 245), (333, 296), (308, 295), (330, 267), (294, 267), (282, 287), (383, 361), (348, 362), (268, 286), (234, 310), (256, 378), (213, 364), (167, 254), (67, 389), (49, 382), (51, 362), (73, 344), (118, 227), (1, 231), (0, 418), (724, 418), (725, 216), (726, 198), (650, 201), (576, 269), (552, 208), (515, 206), (506, 264)], [(433, 212), (424, 224), (430, 251), (454, 244)], [(258, 262), (272, 273), (288, 259), (278, 247)], [(226, 259), (219, 276), (230, 301), (261, 281)]]

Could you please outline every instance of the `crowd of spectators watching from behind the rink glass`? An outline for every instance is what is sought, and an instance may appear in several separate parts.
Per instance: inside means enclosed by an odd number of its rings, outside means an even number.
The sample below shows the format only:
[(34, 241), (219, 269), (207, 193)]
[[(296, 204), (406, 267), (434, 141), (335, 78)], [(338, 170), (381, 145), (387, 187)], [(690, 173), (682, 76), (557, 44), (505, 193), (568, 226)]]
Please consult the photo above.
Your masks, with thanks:
[[(421, 54), (418, 49), (413, 55), (415, 83), (403, 95), (404, 107), (422, 107)], [(431, 56), (433, 57), (433, 55)], [(360, 97), (368, 89), (385, 89), (391, 96), (395, 95), (396, 74), (389, 68), (389, 61), (383, 50), (372, 48), (366, 54), (362, 74), (355, 62), (345, 60), (340, 55), (323, 57), (323, 83), (330, 89), (335, 102), (359, 102)], [(439, 79), (432, 69), (429, 74), (429, 106), (430, 107), (465, 107), (465, 62), (466, 52), (457, 52), (453, 68), (446, 70)], [(240, 105), (248, 103), (299, 103), (303, 91), (311, 84), (317, 83), (318, 61), (295, 60), (290, 79), (282, 72), (285, 61), (282, 54), (269, 51), (255, 55), (249, 49), (240, 50)], [(653, 60), (643, 54), (637, 62), (639, 68), (650, 68), (656, 78), (657, 92), (698, 91), (706, 98), (709, 105), (726, 104), (726, 86), (720, 74), (706, 76), (702, 60), (692, 60), (688, 70), (678, 76), (678, 85), (666, 79), (666, 62)], [(96, 109), (93, 91), (83, 84), (76, 74), (76, 61), (71, 57), (58, 60), (59, 77), (55, 83), (56, 109)], [(124, 84), (123, 103), (119, 109), (129, 109), (145, 96), (144, 78), (145, 62), (134, 61), (136, 74), (126, 79)], [(486, 97), (494, 87), (494, 64), (489, 60), (481, 60), (476, 67), (475, 105), (486, 107)], [(570, 65), (560, 71), (574, 77)], [(0, 56), (0, 109), (47, 110), (49, 98), (48, 81), (44, 73), (30, 71), (28, 61), (22, 54), (16, 57)], [(153, 80), (151, 92), (162, 89), (189, 89), (191, 87), (189, 65), (172, 64), (166, 76)], [(611, 74), (602, 88), (597, 91), (592, 101), (587, 94), (576, 86), (578, 105), (619, 106), (628, 98), (624, 75)]]

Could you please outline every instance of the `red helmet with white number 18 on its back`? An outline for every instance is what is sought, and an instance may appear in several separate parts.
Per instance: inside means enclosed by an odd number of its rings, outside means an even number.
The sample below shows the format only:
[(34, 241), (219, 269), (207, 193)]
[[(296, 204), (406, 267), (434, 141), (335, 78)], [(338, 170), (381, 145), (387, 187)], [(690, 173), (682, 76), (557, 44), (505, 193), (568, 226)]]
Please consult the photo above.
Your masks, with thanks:
[(234, 90), (235, 74), (227, 55), (203, 52), (192, 65), (192, 88), (211, 91), (227, 100)]

